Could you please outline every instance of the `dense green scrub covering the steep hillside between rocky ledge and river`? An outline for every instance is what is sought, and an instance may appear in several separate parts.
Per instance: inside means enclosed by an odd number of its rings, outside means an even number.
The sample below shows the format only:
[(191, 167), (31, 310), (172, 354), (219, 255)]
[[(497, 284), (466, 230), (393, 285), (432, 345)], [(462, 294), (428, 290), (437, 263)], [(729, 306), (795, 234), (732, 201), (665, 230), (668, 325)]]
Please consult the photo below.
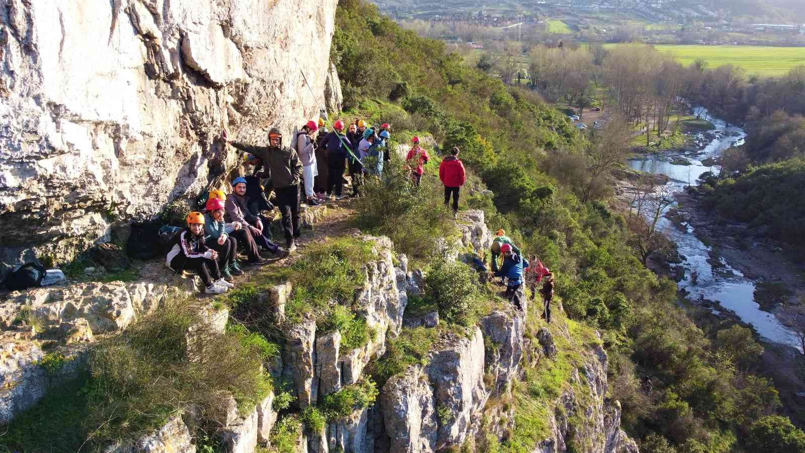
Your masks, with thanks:
[[(556, 272), (568, 316), (602, 332), (609, 396), (621, 401), (625, 429), (643, 451), (805, 451), (805, 433), (778, 415), (777, 391), (757, 374), (762, 347), (751, 331), (730, 322), (697, 327), (676, 304), (675, 283), (641, 263), (640, 227), (613, 210), (606, 189), (601, 156), (625, 146), (617, 128), (581, 135), (534, 91), (467, 68), (444, 44), (404, 31), (364, 0), (340, 2), (332, 60), (346, 118), (391, 123), (400, 142), (431, 135), (441, 149), (461, 148), (471, 173), (463, 204), (485, 210), (491, 227), (539, 256)], [(426, 258), (444, 222), (421, 194), (396, 195), (383, 198), (387, 216), (364, 202), (363, 226)], [(531, 451), (526, 402), (541, 397), (515, 400), (516, 427), (501, 451)]]

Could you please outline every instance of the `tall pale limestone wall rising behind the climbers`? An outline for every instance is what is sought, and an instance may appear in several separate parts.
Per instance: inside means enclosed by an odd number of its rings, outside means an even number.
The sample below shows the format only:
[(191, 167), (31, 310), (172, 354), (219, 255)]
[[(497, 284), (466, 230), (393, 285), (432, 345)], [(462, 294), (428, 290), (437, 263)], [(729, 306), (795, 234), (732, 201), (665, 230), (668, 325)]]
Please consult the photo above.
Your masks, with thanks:
[[(0, 272), (68, 260), (339, 104), (336, 0), (0, 0)], [(304, 74), (304, 77), (303, 77)], [(304, 78), (312, 87), (305, 85)]]

